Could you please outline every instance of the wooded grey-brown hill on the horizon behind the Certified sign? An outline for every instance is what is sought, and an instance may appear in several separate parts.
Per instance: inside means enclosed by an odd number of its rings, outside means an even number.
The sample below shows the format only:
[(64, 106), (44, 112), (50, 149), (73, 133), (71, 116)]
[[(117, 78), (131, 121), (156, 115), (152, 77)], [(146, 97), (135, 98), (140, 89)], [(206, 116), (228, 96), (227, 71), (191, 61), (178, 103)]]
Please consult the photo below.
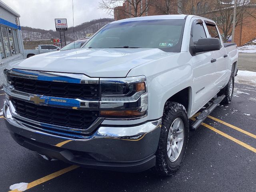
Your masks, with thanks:
[[(74, 34), (73, 27), (69, 27), (68, 31), (65, 32), (66, 41), (74, 41), (85, 37), (88, 33), (95, 33), (104, 25), (112, 21), (114, 21), (112, 18), (100, 18), (91, 20), (89, 22), (84, 22), (74, 27)], [(36, 29), (27, 26), (22, 26), (21, 30), (23, 40), (60, 38), (60, 32), (54, 30)]]

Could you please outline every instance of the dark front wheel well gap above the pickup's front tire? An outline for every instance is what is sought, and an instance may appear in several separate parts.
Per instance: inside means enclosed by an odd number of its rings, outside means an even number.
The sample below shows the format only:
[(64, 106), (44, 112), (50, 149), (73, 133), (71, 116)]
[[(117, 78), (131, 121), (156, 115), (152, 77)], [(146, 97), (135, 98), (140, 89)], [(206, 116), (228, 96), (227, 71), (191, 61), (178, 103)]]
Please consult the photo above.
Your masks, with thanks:
[(189, 92), (190, 88), (187, 87), (185, 89), (180, 90), (178, 93), (174, 94), (171, 96), (167, 101), (172, 101), (172, 102), (177, 102), (182, 104), (187, 112), (188, 112), (188, 107), (189, 107)]

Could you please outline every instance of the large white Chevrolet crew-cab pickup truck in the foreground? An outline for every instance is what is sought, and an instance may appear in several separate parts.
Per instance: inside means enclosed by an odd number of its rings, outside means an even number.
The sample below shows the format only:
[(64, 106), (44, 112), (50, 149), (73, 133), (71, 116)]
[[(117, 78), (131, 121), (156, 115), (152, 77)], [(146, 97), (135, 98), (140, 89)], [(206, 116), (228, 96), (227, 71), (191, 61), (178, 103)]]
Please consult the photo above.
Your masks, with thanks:
[(237, 62), (236, 44), (224, 44), (207, 18), (114, 21), (79, 50), (10, 64), (6, 125), (18, 144), (49, 159), (170, 175), (189, 131), (231, 101)]

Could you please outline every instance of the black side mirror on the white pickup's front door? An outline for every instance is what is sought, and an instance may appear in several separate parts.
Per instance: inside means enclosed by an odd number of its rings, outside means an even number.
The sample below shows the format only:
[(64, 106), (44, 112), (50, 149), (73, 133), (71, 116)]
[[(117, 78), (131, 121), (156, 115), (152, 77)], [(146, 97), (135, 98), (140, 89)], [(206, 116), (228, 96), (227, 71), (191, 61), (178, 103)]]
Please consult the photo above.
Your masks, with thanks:
[(198, 52), (220, 50), (221, 44), (218, 38), (202, 38), (199, 39), (196, 45), (191, 45), (190, 50), (193, 55)]

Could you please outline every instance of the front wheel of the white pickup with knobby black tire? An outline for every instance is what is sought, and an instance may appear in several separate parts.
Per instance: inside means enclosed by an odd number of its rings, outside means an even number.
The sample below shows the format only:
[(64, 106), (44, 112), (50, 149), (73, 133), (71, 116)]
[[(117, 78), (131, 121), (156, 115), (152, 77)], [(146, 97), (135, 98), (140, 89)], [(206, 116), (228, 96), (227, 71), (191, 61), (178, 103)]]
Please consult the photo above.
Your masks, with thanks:
[[(176, 127), (175, 125), (178, 125), (178, 122), (180, 122), (180, 126), (176, 130), (177, 132), (172, 132)], [(181, 134), (182, 125), (183, 134)], [(170, 130), (171, 126), (172, 130)], [(158, 149), (156, 151), (156, 166), (154, 167), (154, 171), (157, 174), (170, 176), (180, 168), (187, 149), (188, 134), (189, 122), (185, 107), (176, 102), (166, 102), (162, 116), (162, 128)], [(183, 142), (176, 142), (182, 138), (181, 135), (183, 135)], [(178, 150), (180, 151), (179, 153), (177, 153), (177, 150), (174, 152), (175, 146), (180, 149)], [(168, 149), (171, 150), (171, 152)], [(176, 153), (176, 155), (173, 153)]]

